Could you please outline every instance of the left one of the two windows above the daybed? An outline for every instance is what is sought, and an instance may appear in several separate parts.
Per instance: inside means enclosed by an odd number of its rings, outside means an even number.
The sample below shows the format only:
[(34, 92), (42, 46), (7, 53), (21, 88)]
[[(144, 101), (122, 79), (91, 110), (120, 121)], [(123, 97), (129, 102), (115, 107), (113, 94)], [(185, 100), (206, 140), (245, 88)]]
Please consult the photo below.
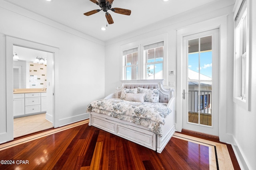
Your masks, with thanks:
[(137, 80), (138, 48), (123, 51), (124, 80)]

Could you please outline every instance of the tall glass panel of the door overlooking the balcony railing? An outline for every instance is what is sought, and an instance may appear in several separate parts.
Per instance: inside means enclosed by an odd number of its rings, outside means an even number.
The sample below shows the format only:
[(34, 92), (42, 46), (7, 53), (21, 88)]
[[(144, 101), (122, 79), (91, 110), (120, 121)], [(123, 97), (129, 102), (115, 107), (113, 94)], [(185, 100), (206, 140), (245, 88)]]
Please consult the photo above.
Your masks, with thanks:
[(212, 36), (188, 41), (188, 122), (212, 126)]

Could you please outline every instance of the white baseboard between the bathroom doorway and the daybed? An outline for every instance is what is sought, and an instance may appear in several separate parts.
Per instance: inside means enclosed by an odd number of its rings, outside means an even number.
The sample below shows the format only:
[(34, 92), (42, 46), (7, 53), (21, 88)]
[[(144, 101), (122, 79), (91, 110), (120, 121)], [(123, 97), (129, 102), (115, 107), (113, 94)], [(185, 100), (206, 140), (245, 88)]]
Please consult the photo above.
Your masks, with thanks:
[(55, 128), (56, 127), (62, 127), (65, 125), (69, 125), (71, 123), (76, 123), (78, 121), (82, 121), (85, 119), (89, 119), (90, 113), (83, 113), (80, 115), (72, 116), (72, 117), (66, 117), (64, 119), (59, 119), (57, 122), (55, 122)]

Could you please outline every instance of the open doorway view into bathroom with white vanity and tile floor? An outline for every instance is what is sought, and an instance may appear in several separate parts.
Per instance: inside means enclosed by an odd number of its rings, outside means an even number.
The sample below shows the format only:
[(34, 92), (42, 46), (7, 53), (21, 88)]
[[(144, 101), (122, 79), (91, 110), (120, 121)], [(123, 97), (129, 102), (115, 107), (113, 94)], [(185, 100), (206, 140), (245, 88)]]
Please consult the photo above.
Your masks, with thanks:
[(14, 138), (53, 127), (53, 53), (13, 45)]

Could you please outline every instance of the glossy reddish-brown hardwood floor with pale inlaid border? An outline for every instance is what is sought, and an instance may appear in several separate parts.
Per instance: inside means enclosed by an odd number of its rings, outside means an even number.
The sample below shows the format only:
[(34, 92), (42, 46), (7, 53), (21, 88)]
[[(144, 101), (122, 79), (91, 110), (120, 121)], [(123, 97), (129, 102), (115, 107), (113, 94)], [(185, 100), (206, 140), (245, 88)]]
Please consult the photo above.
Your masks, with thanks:
[(239, 169), (228, 147), (175, 133), (159, 154), (88, 126), (86, 120), (0, 145), (0, 160), (14, 163), (0, 164), (0, 169)]

